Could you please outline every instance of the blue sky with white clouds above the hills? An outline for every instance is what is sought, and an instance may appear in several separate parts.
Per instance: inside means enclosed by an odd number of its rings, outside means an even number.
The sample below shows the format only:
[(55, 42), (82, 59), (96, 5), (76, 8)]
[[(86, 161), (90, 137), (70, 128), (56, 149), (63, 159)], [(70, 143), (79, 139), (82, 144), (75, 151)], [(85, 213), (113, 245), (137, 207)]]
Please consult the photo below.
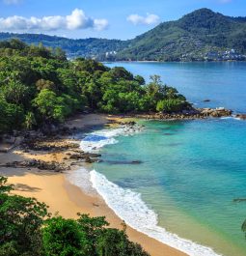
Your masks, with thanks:
[(246, 16), (246, 0), (0, 0), (0, 31), (126, 40), (200, 8)]

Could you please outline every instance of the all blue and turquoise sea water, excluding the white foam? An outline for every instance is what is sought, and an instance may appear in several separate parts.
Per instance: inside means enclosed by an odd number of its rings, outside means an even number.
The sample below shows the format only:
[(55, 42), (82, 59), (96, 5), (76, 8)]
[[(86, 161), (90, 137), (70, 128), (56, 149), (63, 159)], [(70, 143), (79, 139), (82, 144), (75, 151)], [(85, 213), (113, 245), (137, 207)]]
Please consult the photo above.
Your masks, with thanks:
[[(116, 64), (114, 64), (116, 65)], [(189, 100), (246, 112), (246, 64), (117, 64), (146, 78), (162, 74)], [(141, 193), (158, 225), (227, 256), (246, 255), (246, 122), (140, 121), (142, 132), (101, 149), (97, 172)], [(139, 164), (130, 164), (139, 160)], [(198, 254), (199, 255), (199, 254)]]

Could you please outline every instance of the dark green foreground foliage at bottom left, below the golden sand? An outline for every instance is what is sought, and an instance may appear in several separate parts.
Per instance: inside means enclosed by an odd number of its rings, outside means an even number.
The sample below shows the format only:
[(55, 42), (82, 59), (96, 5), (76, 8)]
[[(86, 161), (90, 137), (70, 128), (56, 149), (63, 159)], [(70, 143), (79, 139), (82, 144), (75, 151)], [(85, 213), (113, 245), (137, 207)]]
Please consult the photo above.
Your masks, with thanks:
[(79, 214), (66, 219), (47, 212), (34, 198), (11, 194), (0, 177), (1, 256), (148, 256), (122, 230), (108, 228), (104, 217)]

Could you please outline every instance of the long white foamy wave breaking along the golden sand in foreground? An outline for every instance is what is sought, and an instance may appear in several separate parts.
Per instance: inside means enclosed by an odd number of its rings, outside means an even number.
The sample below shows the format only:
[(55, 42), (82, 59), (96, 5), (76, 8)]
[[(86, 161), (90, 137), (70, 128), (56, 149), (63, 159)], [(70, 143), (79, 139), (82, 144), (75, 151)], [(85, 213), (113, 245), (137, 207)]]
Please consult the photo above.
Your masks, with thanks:
[(91, 182), (106, 204), (126, 224), (159, 242), (164, 242), (190, 256), (218, 256), (211, 248), (179, 238), (158, 226), (157, 214), (148, 208), (141, 195), (111, 183), (95, 170), (90, 172)]

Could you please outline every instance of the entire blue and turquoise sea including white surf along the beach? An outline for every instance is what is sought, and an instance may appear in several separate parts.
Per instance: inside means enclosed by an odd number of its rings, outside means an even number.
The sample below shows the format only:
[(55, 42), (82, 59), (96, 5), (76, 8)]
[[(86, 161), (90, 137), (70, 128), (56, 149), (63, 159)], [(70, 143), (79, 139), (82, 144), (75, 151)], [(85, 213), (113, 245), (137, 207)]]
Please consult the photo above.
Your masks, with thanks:
[[(161, 76), (198, 107), (246, 113), (246, 63), (106, 63)], [(205, 100), (210, 100), (206, 101)], [(191, 256), (245, 256), (246, 121), (138, 121), (96, 128), (81, 149), (101, 162), (69, 180), (95, 190), (131, 227)]]

